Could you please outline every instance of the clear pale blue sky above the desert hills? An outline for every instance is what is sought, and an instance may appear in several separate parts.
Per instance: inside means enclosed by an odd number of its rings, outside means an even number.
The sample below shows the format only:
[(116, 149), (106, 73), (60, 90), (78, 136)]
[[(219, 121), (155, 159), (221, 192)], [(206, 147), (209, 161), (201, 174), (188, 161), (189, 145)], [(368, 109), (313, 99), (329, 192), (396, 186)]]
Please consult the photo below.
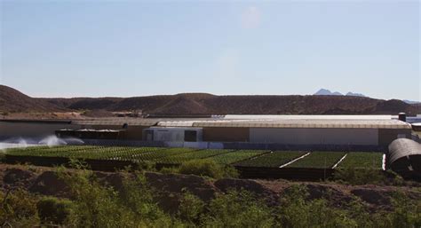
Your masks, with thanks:
[(32, 97), (183, 92), (421, 100), (420, 2), (0, 0), (0, 83)]

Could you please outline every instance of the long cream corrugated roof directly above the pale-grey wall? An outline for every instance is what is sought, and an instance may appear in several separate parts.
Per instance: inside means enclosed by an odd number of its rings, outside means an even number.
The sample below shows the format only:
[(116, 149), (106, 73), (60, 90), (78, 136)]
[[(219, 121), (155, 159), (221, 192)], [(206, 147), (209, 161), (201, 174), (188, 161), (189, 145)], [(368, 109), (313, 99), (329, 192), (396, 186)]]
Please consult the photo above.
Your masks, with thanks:
[(411, 129), (396, 120), (234, 120), (194, 122), (194, 127)]

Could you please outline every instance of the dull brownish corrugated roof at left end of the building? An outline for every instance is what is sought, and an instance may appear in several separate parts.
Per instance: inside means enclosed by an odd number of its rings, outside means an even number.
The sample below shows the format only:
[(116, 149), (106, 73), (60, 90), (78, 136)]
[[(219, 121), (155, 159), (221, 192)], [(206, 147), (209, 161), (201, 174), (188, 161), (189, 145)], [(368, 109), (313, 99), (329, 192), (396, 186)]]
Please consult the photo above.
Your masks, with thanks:
[(136, 120), (127, 120), (127, 119), (108, 119), (108, 120), (89, 120), (89, 121), (72, 121), (72, 124), (76, 125), (115, 125), (123, 126), (124, 123), (127, 123), (129, 126), (154, 126), (156, 120), (148, 119), (136, 119)]

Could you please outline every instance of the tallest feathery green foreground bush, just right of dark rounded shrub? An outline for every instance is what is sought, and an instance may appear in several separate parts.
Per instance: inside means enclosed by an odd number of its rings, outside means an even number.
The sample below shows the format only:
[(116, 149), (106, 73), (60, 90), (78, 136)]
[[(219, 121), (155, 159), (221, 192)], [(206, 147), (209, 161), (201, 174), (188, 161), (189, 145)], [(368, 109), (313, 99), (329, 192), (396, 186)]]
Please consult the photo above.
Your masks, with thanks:
[(168, 227), (171, 216), (155, 204), (152, 192), (143, 181), (127, 180), (121, 192), (99, 184), (93, 172), (60, 172), (70, 186), (74, 199), (74, 214), (70, 227)]

